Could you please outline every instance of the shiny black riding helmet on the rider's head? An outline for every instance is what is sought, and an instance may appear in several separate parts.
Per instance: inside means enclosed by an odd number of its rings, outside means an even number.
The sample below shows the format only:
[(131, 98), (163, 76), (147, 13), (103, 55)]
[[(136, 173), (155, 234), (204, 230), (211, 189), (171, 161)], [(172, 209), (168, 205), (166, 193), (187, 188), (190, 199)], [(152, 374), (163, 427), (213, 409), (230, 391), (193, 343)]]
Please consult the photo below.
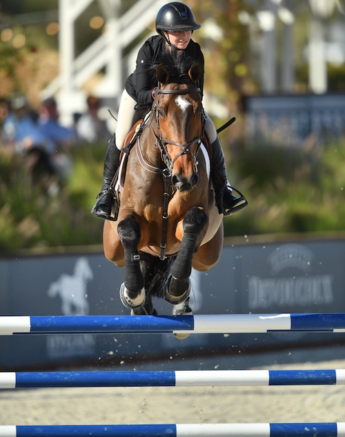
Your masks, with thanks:
[(184, 30), (196, 30), (201, 26), (195, 23), (195, 17), (190, 8), (179, 1), (172, 1), (162, 6), (156, 17), (156, 30), (161, 37), (170, 44), (166, 39), (164, 32), (175, 31), (183, 32)]

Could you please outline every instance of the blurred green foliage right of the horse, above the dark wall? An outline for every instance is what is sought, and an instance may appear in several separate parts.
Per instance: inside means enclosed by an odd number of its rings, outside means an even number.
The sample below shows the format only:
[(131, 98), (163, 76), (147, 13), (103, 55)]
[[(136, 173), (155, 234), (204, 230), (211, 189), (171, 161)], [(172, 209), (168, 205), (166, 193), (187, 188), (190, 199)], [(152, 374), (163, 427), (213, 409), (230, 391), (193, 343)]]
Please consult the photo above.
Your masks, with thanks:
[(344, 141), (240, 148), (235, 162), (248, 207), (226, 218), (226, 235), (344, 231), (344, 158)]

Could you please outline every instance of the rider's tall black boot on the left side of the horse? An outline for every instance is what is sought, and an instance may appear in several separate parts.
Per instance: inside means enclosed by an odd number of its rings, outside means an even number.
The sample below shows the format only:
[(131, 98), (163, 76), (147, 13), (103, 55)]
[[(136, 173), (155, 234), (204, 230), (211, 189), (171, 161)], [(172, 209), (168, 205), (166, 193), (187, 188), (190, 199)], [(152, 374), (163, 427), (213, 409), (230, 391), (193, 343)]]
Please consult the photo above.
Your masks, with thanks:
[[(119, 150), (115, 144), (115, 135), (112, 135), (108, 143), (106, 158), (104, 159), (103, 186), (97, 196), (97, 202), (91, 211), (96, 217), (112, 221), (117, 220), (119, 206), (117, 202), (114, 202), (115, 191), (110, 184), (117, 172), (117, 168), (119, 168), (120, 152), (121, 150)], [(114, 211), (114, 217), (111, 215), (112, 209)]]

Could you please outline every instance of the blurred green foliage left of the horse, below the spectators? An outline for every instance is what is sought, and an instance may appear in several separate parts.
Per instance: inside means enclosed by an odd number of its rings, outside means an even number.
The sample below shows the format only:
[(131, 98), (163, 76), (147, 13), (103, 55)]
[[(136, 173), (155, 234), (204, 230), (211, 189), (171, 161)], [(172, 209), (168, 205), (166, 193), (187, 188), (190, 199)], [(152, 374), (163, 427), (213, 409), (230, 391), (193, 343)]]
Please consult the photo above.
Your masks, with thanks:
[(72, 174), (58, 195), (33, 184), (23, 157), (0, 155), (0, 251), (101, 244), (90, 214), (101, 186), (105, 146), (71, 150)]

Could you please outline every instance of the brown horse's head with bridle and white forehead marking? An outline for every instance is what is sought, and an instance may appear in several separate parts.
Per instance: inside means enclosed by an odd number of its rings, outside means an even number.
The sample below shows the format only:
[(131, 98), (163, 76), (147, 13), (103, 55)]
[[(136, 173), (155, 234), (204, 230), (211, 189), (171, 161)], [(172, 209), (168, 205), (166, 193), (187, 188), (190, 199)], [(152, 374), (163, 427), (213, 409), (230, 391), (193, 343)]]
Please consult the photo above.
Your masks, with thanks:
[(178, 77), (165, 64), (157, 67), (155, 135), (172, 184), (179, 191), (189, 191), (198, 180), (197, 152), (205, 124), (201, 92), (197, 88), (201, 75), (202, 67), (197, 62)]

